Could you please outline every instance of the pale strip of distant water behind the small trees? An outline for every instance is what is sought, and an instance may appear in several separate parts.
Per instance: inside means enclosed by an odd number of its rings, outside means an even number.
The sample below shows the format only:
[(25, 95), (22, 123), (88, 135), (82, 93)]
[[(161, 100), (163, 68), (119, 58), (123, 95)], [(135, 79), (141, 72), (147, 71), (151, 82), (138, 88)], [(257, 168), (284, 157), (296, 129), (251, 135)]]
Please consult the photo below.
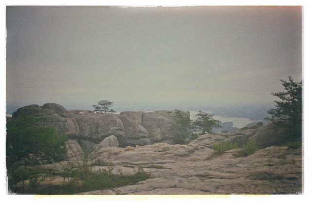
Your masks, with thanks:
[[(211, 112), (207, 112), (207, 113), (211, 113)], [(198, 111), (190, 111), (190, 118), (194, 120), (196, 114), (198, 114)], [(254, 122), (250, 120), (249, 118), (242, 118), (242, 117), (223, 117), (223, 116), (214, 115), (213, 118), (221, 122), (233, 122), (233, 127), (237, 127), (237, 128), (242, 128), (246, 126), (247, 124)]]

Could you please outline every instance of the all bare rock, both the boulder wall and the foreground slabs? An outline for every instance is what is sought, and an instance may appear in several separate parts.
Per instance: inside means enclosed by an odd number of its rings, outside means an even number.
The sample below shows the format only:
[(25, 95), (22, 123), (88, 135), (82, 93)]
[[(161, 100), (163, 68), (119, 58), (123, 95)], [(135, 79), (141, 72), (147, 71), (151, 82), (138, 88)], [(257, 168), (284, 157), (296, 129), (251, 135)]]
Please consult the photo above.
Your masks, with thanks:
[[(188, 145), (172, 145), (168, 144), (172, 139), (170, 136), (171, 123), (174, 119), (172, 111), (103, 115), (86, 110), (67, 112), (55, 104), (43, 106), (30, 105), (28, 108), (21, 108), (12, 118), (23, 115), (47, 117), (49, 119), (46, 125), (58, 125), (59, 135), (63, 133), (69, 135), (71, 139), (66, 143), (68, 148), (66, 161), (37, 167), (48, 168), (58, 173), (62, 172), (67, 164), (79, 162), (86, 156), (88, 163), (95, 170), (108, 168), (108, 163), (113, 163), (113, 172), (116, 174), (122, 172), (124, 175), (132, 175), (137, 172), (138, 167), (142, 167), (151, 177), (135, 185), (81, 194), (302, 192), (301, 149), (272, 146), (276, 143), (278, 134), (282, 132), (274, 130), (271, 124), (259, 124), (235, 132), (205, 134), (192, 140)], [(189, 116), (188, 113), (185, 115)], [(233, 156), (239, 149), (215, 155), (213, 145), (224, 140), (238, 145), (253, 140), (263, 149), (240, 158)], [(85, 152), (82, 141), (90, 145), (90, 152)], [(132, 146), (120, 147), (120, 143)], [(57, 182), (61, 180), (46, 181), (46, 183)]]

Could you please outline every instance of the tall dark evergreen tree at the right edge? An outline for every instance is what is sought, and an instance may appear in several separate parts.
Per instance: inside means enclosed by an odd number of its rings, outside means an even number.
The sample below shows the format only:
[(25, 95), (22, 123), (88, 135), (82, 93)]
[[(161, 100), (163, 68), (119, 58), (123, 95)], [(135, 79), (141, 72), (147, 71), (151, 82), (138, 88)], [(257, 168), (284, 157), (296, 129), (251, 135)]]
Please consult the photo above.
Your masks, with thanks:
[(285, 141), (300, 140), (302, 133), (302, 81), (294, 82), (280, 80), (284, 86), (284, 92), (272, 93), (280, 101), (275, 109), (270, 109), (266, 120), (274, 121), (277, 127), (285, 129)]

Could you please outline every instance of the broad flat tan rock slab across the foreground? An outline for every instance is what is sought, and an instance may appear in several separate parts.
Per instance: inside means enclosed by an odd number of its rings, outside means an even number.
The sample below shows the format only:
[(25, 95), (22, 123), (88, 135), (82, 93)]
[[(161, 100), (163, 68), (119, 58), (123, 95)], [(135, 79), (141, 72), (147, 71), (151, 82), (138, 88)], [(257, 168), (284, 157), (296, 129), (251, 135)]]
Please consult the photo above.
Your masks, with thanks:
[[(159, 143), (130, 149), (102, 148), (90, 156), (134, 174), (139, 165), (151, 179), (109, 194), (297, 194), (302, 192), (301, 149), (268, 147), (234, 158), (238, 150), (214, 156), (203, 146)], [(106, 168), (94, 166), (94, 169)], [(108, 190), (82, 194), (108, 194)]]

